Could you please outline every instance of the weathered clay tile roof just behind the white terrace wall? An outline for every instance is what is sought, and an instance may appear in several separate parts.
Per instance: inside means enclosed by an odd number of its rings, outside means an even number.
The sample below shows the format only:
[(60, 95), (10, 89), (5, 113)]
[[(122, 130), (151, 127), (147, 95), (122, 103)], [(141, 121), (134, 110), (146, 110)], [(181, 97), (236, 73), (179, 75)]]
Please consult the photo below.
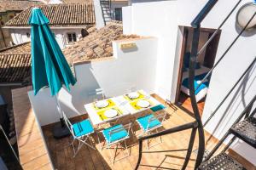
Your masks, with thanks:
[(92, 31), (73, 46), (63, 49), (63, 53), (70, 65), (92, 59), (112, 57), (113, 41), (137, 37), (137, 35), (124, 35), (122, 24), (112, 21), (107, 26)]

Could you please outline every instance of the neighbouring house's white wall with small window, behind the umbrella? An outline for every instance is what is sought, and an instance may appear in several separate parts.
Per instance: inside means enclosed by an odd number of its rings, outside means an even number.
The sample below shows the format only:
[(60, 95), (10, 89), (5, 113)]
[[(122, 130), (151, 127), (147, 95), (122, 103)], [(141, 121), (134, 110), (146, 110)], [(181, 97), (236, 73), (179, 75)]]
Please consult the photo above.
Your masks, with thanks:
[[(17, 28), (17, 29), (10, 29), (11, 37), (13, 39), (13, 42), (15, 44), (20, 44), (24, 42), (30, 42), (31, 37), (27, 37), (27, 33), (31, 35), (31, 30), (29, 28)], [(77, 36), (77, 40), (81, 37), (81, 28), (73, 28), (73, 29), (54, 29), (52, 28), (51, 31), (55, 33), (55, 38), (60, 45), (61, 49), (65, 48), (67, 46), (70, 46), (72, 44), (68, 44), (67, 42), (67, 33), (69, 32), (75, 32)]]

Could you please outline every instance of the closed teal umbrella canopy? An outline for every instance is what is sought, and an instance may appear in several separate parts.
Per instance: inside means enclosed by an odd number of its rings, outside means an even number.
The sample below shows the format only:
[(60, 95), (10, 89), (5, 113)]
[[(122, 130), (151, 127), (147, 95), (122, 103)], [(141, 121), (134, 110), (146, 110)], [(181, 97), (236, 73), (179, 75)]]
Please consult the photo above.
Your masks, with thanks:
[(48, 86), (51, 95), (55, 95), (62, 84), (70, 90), (69, 85), (76, 82), (48, 23), (40, 8), (32, 8), (29, 24), (32, 26), (32, 86), (35, 95)]

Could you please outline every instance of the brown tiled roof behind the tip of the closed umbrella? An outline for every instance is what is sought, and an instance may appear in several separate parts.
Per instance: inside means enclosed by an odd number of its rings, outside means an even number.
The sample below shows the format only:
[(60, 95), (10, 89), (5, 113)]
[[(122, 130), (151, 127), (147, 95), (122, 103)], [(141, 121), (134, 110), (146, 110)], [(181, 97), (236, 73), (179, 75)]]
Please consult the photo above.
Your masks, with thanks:
[[(95, 25), (95, 13), (92, 3), (62, 3), (39, 6), (49, 19), (49, 26)], [(29, 26), (28, 20), (32, 8), (27, 8), (5, 26)], [(61, 17), (60, 17), (61, 16)]]

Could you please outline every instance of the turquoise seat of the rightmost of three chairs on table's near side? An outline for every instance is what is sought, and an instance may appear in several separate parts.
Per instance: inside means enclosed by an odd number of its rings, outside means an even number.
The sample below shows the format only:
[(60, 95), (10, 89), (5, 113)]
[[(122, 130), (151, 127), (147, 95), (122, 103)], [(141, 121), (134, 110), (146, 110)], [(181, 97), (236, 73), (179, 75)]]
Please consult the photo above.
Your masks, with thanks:
[[(154, 119), (154, 120), (148, 122), (151, 117), (154, 117), (154, 115), (150, 114), (147, 116), (137, 118), (137, 122), (140, 124), (141, 127), (143, 127), (144, 131), (147, 131), (150, 128), (157, 127), (157, 126), (161, 125), (161, 122), (157, 119)], [(148, 123), (149, 123), (149, 125), (148, 125)]]

